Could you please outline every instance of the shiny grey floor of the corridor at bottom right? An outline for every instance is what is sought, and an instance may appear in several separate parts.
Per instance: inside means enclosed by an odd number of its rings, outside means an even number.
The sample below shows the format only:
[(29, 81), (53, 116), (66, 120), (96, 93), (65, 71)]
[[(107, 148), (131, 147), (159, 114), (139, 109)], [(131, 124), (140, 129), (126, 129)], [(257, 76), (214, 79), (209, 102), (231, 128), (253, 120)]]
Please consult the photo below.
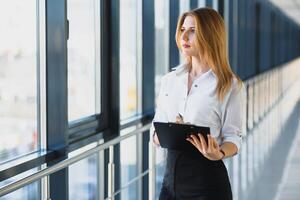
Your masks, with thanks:
[(298, 102), (247, 200), (300, 200), (299, 121)]

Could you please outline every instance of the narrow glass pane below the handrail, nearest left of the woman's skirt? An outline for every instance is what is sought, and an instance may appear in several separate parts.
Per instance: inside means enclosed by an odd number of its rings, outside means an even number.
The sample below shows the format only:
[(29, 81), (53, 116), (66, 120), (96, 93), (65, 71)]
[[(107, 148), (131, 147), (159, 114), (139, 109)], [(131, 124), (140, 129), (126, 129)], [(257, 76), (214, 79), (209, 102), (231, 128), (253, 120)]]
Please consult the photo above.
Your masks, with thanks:
[[(130, 130), (128, 129), (126, 131)], [(121, 134), (125, 134), (124, 131)], [(136, 136), (125, 139), (120, 143), (120, 156), (121, 187), (124, 187), (138, 175)], [(135, 183), (132, 183), (128, 189), (122, 190), (121, 199), (137, 199), (137, 187), (135, 185)]]

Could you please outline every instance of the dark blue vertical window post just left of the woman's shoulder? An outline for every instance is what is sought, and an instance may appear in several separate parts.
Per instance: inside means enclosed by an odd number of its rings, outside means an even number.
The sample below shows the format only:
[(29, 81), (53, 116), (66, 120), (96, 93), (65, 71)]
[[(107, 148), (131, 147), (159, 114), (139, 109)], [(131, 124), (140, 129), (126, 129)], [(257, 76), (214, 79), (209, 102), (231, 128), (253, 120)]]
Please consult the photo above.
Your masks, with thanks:
[[(154, 1), (142, 1), (142, 113), (144, 120), (142, 125), (148, 124), (154, 116), (155, 110), (155, 11)], [(137, 138), (139, 142), (138, 155), (140, 160), (139, 173), (143, 173), (149, 169), (149, 132), (146, 131)], [(149, 175), (142, 178), (140, 199), (148, 199), (149, 196)]]

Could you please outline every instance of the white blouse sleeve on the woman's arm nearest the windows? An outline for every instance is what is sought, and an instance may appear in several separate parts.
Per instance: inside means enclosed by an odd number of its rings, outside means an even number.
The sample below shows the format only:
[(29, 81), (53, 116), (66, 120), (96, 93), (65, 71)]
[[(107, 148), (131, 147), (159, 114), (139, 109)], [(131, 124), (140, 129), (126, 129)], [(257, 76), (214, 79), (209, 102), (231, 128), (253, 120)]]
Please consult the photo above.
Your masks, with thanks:
[(153, 122), (168, 122), (168, 118), (167, 118), (167, 114), (165, 112), (165, 109), (163, 107), (163, 95), (165, 95), (165, 88), (166, 88), (166, 77), (163, 76), (161, 78), (161, 83), (160, 83), (160, 90), (159, 90), (159, 94), (158, 94), (158, 97), (157, 97), (157, 106), (156, 106), (156, 109), (155, 109), (155, 115), (154, 115), (154, 118), (152, 120), (152, 125), (151, 125), (151, 128), (150, 128), (150, 140), (153, 139), (152, 135), (155, 131), (154, 129), (154, 125), (153, 125)]

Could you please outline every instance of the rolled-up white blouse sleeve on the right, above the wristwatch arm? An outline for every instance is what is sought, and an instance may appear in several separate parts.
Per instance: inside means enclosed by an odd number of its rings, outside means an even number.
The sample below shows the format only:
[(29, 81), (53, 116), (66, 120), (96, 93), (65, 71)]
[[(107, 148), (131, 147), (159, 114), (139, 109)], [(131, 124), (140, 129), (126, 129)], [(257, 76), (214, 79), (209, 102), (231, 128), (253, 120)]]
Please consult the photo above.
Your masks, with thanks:
[(231, 142), (240, 151), (242, 137), (245, 134), (246, 90), (244, 84), (240, 87), (235, 80), (222, 115), (222, 138)]

